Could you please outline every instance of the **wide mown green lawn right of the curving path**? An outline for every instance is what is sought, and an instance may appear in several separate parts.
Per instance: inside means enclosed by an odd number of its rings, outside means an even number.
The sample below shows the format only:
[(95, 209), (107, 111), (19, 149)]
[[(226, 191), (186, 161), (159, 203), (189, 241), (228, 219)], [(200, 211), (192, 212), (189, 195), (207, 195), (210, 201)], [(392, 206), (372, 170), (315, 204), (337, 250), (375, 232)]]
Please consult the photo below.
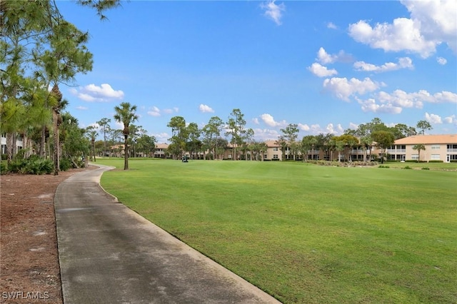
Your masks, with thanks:
[(283, 303), (457, 303), (456, 164), (417, 165), (131, 158), (101, 183)]

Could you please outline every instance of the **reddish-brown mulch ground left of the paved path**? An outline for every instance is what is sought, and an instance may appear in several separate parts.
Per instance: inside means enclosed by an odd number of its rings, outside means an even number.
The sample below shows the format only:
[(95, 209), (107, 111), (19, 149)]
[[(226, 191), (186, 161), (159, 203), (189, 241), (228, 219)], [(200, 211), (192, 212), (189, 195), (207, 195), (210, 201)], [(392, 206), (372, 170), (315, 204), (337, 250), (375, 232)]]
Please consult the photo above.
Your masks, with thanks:
[(62, 303), (54, 194), (94, 168), (0, 176), (0, 303)]

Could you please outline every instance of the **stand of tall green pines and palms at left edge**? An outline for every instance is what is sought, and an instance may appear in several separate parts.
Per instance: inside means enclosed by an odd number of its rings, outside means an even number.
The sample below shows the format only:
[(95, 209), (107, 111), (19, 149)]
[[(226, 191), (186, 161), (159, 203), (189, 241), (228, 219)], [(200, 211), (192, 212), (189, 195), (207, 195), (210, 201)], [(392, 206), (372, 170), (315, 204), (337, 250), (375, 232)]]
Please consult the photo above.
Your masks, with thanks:
[[(76, 0), (76, 4), (106, 19), (105, 11), (119, 6), (119, 0)], [(62, 113), (68, 101), (59, 85), (74, 83), (76, 74), (91, 71), (89, 32), (66, 21), (57, 1), (36, 0), (1, 1), (0, 33), (0, 130), (6, 133), (8, 163), (17, 154), (19, 134), (38, 143), (41, 158), (51, 154), (58, 174), (60, 156), (72, 156), (81, 145), (69, 138), (81, 140), (83, 133), (74, 117)]]

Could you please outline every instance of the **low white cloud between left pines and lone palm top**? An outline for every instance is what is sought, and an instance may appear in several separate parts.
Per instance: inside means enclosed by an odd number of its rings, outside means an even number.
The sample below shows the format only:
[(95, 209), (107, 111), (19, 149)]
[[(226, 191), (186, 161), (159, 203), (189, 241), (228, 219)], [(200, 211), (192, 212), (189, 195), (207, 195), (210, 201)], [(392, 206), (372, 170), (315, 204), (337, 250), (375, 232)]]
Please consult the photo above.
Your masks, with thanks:
[(100, 86), (89, 84), (80, 86), (78, 89), (71, 88), (70, 93), (78, 98), (89, 102), (108, 102), (113, 99), (124, 98), (123, 91), (116, 91), (108, 83), (101, 83)]

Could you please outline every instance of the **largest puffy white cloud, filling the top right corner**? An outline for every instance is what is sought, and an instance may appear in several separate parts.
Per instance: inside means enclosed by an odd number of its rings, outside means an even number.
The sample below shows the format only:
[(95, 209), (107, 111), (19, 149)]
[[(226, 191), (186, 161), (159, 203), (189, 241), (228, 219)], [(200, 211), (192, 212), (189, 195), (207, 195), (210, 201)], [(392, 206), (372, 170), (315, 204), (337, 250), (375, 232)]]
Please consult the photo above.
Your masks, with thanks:
[(457, 1), (402, 1), (411, 19), (393, 19), (392, 24), (358, 21), (349, 25), (349, 36), (373, 49), (411, 51), (423, 58), (435, 53), (436, 46), (446, 43), (457, 52)]

